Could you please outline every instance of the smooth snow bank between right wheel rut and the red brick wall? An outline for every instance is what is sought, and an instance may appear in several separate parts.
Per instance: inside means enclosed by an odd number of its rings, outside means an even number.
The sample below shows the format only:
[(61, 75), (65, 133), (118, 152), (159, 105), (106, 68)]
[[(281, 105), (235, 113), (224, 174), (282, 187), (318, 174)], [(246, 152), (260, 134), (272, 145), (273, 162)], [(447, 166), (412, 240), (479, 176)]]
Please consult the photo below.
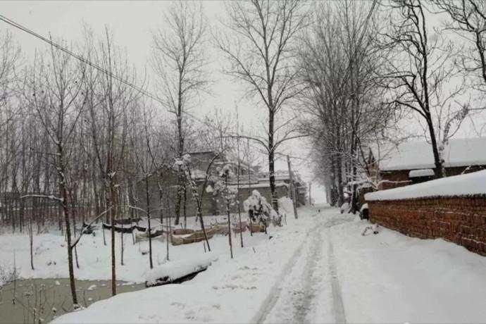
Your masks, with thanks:
[(443, 239), (387, 228), (362, 236), (367, 225), (356, 220), (328, 234), (347, 323), (485, 321), (485, 257)]

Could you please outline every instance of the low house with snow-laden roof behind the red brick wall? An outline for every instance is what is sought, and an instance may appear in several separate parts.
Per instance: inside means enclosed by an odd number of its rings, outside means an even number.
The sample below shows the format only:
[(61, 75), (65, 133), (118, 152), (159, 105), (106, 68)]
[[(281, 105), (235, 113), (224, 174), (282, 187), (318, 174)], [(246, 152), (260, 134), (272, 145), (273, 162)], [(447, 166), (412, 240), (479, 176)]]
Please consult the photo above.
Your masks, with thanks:
[[(449, 139), (444, 147), (447, 176), (486, 169), (486, 137)], [(403, 187), (432, 180), (435, 164), (429, 142), (410, 141), (370, 149), (368, 165), (379, 189)]]

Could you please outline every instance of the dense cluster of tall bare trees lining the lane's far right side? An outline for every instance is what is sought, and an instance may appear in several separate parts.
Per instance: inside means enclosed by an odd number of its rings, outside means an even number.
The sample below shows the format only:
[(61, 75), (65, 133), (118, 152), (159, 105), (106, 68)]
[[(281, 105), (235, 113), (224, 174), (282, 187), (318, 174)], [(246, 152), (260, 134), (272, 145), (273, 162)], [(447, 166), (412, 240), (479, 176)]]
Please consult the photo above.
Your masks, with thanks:
[[(393, 126), (394, 110), (381, 104), (376, 75), (381, 56), (373, 24), (375, 2), (342, 0), (316, 6), (313, 27), (302, 37), (300, 118), (311, 135), (314, 172), (325, 184), (330, 204), (351, 193), (356, 210), (356, 182), (366, 168), (363, 147), (382, 139)], [(365, 10), (363, 10), (365, 9)]]

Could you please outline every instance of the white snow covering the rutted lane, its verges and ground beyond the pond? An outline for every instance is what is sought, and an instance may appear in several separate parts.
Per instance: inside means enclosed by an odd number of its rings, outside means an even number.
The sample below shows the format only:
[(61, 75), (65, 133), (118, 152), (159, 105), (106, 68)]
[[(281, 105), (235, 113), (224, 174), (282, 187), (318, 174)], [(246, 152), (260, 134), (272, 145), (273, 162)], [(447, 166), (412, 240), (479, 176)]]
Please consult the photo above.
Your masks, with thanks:
[[(385, 228), (380, 228), (378, 235), (362, 236), (368, 225), (367, 221), (340, 214), (335, 208), (301, 208), (298, 220), (287, 216), (287, 225), (270, 229), (271, 239), (263, 234), (251, 239), (245, 236), (244, 248), (239, 247), (239, 239), (234, 239), (233, 260), (229, 257), (228, 237), (214, 237), (211, 244), (218, 260), (193, 280), (118, 294), (54, 322), (485, 321), (486, 258), (442, 239), (415, 239)], [(2, 235), (2, 262), (7, 242), (8, 238)], [(163, 242), (159, 244), (154, 250), (161, 256), (165, 250)], [(57, 250), (65, 252), (55, 244), (49, 247), (54, 255)], [(180, 247), (171, 249), (174, 259), (204, 253), (202, 244)], [(17, 260), (28, 259), (27, 242), (25, 249), (16, 252)], [(107, 248), (99, 249), (104, 253), (90, 249), (97, 256), (88, 258), (87, 251), (80, 248), (80, 256), (85, 257), (82, 268), (77, 270), (78, 277), (109, 278)], [(118, 266), (122, 279), (142, 280), (148, 268), (148, 264), (144, 266), (147, 256), (142, 259), (135, 254), (139, 252), (130, 252), (126, 266)], [(10, 255), (11, 252), (7, 254)], [(96, 258), (101, 258), (98, 263), (104, 267), (89, 266)], [(130, 266), (132, 263), (135, 265)], [(28, 261), (22, 263), (22, 268), (27, 268), (21, 270), (23, 275), (45, 276), (56, 272), (40, 270), (45, 268), (42, 262), (38, 262), (39, 270), (35, 272), (28, 270)], [(91, 275), (86, 268), (92, 269)], [(59, 276), (66, 275), (65, 270), (57, 267), (56, 270)]]

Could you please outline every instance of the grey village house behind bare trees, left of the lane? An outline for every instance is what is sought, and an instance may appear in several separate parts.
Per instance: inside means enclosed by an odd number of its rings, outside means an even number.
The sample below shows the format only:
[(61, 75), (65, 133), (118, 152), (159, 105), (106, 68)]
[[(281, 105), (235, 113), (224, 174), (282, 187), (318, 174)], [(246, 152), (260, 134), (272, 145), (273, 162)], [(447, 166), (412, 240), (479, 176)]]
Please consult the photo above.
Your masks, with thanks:
[[(258, 168), (249, 167), (244, 161), (238, 161), (230, 158), (228, 155), (216, 156), (214, 151), (197, 151), (189, 153), (191, 156), (191, 176), (197, 185), (197, 193), (204, 192), (202, 199), (201, 209), (203, 216), (221, 215), (225, 213), (225, 202), (216, 196), (211, 190), (213, 185), (212, 180), (206, 182), (204, 187), (206, 170), (209, 173), (216, 173), (216, 168), (223, 165), (230, 165), (232, 173), (237, 174), (238, 164), (239, 170), (239, 207), (243, 211), (243, 201), (249, 197), (253, 190), (258, 190), (260, 194), (271, 201), (270, 183), (268, 180), (268, 174), (258, 172)], [(211, 167), (208, 166), (211, 164)], [(294, 175), (294, 186), (296, 188), (298, 204), (305, 204), (306, 191), (302, 188), (306, 188), (304, 182), (302, 182), (298, 173)], [(149, 201), (149, 208), (151, 210), (151, 216), (154, 217), (166, 217), (167, 213), (174, 214), (175, 199), (177, 197), (177, 173), (172, 166), (164, 166), (155, 173), (149, 175), (148, 184), (145, 179), (140, 180), (137, 183), (137, 195), (138, 205), (147, 210), (147, 200)], [(147, 199), (147, 185), (149, 187), (149, 194)], [(236, 177), (232, 177), (228, 185), (232, 187), (238, 187)], [(278, 172), (275, 176), (275, 194), (277, 198), (292, 197), (292, 191), (289, 190), (290, 180), (288, 172)], [(181, 202), (181, 216), (185, 214), (187, 216), (194, 216), (197, 213), (197, 205), (192, 198), (191, 188), (187, 188), (186, 199), (182, 197)], [(237, 211), (237, 206), (232, 206), (232, 212)]]

